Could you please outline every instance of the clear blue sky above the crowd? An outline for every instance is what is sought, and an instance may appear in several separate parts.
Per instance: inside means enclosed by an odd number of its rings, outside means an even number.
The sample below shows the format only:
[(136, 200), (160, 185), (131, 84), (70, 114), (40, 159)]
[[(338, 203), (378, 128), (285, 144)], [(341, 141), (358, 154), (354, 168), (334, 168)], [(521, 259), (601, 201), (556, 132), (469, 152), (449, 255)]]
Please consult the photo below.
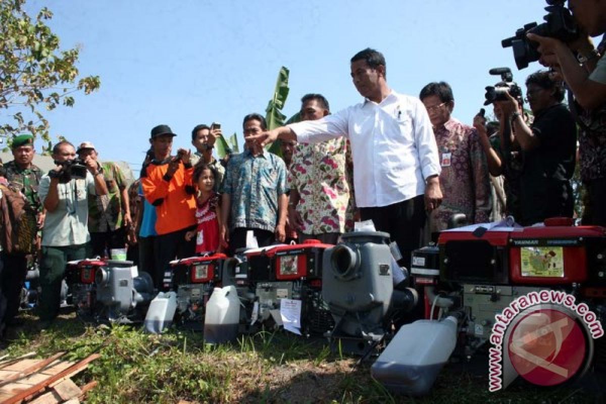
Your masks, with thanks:
[[(190, 147), (191, 128), (218, 121), (238, 133), (245, 114), (264, 114), (279, 68), (290, 69), (284, 113), (301, 96), (324, 94), (337, 111), (361, 101), (349, 59), (365, 47), (384, 53), (387, 80), (418, 96), (431, 81), (454, 91), (453, 115), (471, 123), (482, 107), (491, 67), (508, 66), (523, 84), (540, 68), (515, 67), (501, 39), (541, 21), (544, 1), (108, 1), (30, 0), (47, 5), (62, 48), (80, 45), (81, 75), (101, 89), (78, 94), (73, 108), (48, 113), (53, 141), (62, 134), (92, 141), (102, 159), (138, 170), (150, 129), (168, 124), (176, 147)], [(492, 113), (491, 108), (488, 109)]]

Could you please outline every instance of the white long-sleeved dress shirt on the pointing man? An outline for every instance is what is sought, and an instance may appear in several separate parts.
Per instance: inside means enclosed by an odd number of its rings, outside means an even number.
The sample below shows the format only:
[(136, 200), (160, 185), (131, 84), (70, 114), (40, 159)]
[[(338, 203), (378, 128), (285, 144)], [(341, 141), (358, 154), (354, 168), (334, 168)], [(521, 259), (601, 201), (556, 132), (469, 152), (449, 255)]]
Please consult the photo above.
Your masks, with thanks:
[(288, 127), (301, 143), (350, 139), (358, 207), (383, 207), (424, 194), (425, 179), (440, 173), (425, 106), (395, 91), (380, 104), (366, 99), (318, 121)]

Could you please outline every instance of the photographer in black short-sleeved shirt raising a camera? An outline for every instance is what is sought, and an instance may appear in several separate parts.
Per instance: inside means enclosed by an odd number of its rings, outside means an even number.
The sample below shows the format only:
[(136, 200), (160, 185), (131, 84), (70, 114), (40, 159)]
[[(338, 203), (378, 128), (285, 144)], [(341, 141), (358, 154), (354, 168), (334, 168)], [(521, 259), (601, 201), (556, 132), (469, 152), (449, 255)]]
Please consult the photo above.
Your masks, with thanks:
[(547, 71), (537, 71), (526, 80), (528, 104), (534, 121), (528, 125), (518, 111), (518, 102), (506, 94), (495, 101), (502, 118), (511, 122), (515, 142), (521, 148), (520, 182), (522, 225), (530, 226), (548, 217), (573, 216), (574, 197), (570, 179), (574, 173), (576, 125), (562, 104), (564, 86)]

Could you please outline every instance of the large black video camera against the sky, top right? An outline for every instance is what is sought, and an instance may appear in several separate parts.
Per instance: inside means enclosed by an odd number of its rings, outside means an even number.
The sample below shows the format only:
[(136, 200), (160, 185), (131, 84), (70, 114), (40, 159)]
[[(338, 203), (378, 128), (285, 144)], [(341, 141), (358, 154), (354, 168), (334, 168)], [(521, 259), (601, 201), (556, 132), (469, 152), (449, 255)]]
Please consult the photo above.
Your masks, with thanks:
[(528, 67), (530, 62), (536, 62), (541, 56), (537, 50), (539, 44), (527, 38), (528, 33), (559, 39), (562, 42), (574, 41), (579, 38), (579, 26), (574, 21), (568, 8), (564, 7), (565, 0), (547, 0), (545, 7), (547, 15), (542, 24), (531, 22), (516, 31), (516, 35), (503, 39), (504, 48), (513, 48), (513, 58), (516, 60), (518, 70)]

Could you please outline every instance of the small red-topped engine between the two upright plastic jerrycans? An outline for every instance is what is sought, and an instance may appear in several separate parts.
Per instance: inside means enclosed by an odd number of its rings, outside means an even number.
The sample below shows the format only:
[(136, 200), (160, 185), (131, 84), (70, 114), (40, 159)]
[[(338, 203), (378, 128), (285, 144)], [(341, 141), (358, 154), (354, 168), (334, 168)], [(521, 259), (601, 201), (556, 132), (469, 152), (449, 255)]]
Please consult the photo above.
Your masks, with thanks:
[(187, 328), (204, 328), (206, 304), (215, 286), (223, 284), (225, 254), (190, 257), (170, 263), (177, 294), (178, 322)]

